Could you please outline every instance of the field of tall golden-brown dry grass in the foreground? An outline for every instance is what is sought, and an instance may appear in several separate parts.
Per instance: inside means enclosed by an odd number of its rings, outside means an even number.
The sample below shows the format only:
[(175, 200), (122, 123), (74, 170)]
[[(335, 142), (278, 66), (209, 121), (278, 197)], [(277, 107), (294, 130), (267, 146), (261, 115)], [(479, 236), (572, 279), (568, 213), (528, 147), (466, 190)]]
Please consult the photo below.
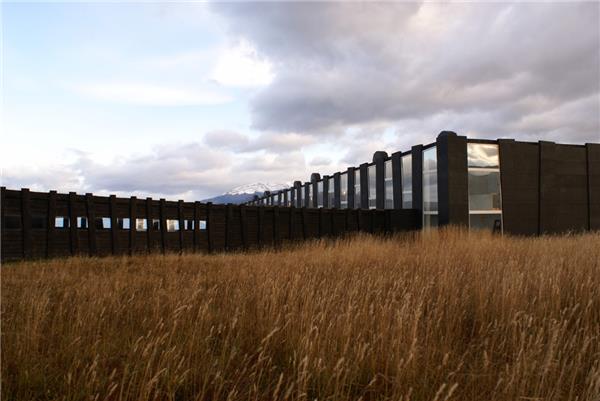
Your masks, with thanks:
[(2, 268), (3, 400), (599, 400), (600, 234)]

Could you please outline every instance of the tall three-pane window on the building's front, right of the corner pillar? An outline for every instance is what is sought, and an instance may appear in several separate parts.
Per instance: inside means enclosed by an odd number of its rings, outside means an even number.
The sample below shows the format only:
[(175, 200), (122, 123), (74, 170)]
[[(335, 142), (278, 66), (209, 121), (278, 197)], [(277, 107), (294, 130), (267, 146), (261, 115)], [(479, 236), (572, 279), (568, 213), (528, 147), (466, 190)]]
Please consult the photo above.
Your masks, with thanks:
[(502, 197), (498, 145), (467, 144), (469, 226), (502, 231)]

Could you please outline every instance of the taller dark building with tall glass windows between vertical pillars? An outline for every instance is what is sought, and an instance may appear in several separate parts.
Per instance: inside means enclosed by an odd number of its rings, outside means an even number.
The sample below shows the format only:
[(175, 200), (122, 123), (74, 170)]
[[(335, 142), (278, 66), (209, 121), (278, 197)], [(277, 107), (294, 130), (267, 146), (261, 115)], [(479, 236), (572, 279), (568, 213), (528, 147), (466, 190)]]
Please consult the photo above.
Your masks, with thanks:
[(600, 144), (436, 141), (249, 202), (308, 208), (416, 209), (423, 228), (457, 224), (542, 234), (600, 230)]

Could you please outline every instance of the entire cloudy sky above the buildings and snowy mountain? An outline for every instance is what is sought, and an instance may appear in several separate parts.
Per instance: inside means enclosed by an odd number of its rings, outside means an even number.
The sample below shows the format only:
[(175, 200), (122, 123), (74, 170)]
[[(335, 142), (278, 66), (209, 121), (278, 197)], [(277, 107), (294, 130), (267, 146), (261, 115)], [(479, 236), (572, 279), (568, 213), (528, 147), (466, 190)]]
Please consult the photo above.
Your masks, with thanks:
[(600, 142), (600, 3), (4, 2), (2, 185), (201, 200), (435, 141)]

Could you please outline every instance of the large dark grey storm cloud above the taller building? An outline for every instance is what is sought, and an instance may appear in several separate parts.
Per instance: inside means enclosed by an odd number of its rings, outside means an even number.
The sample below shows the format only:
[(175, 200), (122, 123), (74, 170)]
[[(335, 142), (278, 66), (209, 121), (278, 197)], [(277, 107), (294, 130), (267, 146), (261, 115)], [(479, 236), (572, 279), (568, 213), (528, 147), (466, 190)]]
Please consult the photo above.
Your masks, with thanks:
[[(598, 3), (213, 6), (274, 66), (261, 130), (387, 122), (474, 136), (598, 140)], [(576, 118), (573, 118), (576, 116)]]

